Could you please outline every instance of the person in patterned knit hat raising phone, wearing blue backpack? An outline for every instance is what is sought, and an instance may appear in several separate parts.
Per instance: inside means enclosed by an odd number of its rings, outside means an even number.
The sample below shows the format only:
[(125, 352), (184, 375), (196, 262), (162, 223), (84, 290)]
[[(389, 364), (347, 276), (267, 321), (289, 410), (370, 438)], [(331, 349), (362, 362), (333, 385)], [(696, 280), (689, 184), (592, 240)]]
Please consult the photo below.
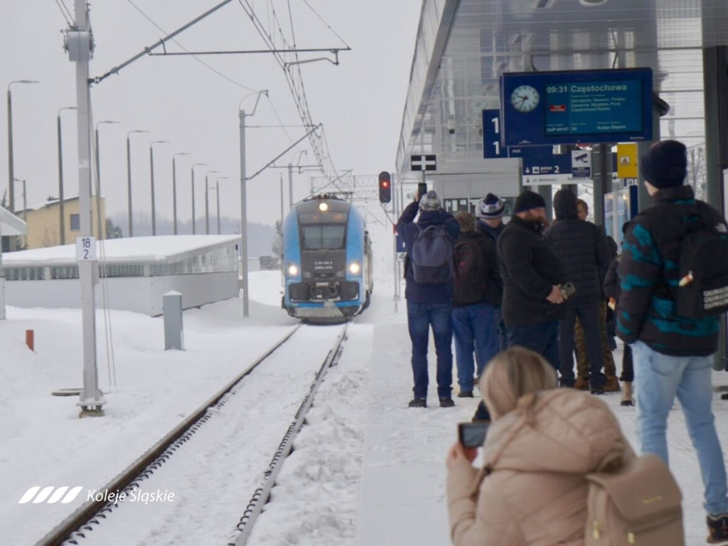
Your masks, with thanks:
[[(405, 243), (405, 298), (407, 323), (412, 341), (414, 398), (410, 408), (427, 407), (427, 345), (432, 327), (437, 354), (440, 407), (450, 408), (452, 399), (452, 292), (453, 249), (460, 228), (451, 214), (440, 207), (435, 191), (405, 208), (397, 233)], [(419, 218), (414, 218), (419, 212)]]

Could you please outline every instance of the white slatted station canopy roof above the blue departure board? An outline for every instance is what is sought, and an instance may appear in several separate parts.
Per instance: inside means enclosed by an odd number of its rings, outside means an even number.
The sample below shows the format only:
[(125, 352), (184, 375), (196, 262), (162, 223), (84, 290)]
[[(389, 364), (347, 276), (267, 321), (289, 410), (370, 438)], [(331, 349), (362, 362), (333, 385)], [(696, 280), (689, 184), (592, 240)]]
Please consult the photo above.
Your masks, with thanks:
[[(596, 5), (585, 5), (596, 4)], [(705, 142), (703, 48), (728, 44), (726, 0), (424, 0), (397, 148), (438, 171), (483, 158), (504, 72), (652, 68), (660, 138)]]

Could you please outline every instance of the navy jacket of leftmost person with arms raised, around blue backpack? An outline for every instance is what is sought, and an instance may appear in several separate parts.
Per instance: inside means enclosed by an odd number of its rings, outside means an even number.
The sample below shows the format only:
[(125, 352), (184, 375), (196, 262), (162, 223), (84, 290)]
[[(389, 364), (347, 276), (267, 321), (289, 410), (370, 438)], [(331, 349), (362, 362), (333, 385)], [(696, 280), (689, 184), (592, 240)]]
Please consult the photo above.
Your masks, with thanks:
[(414, 281), (414, 273), (410, 264), (410, 254), (414, 239), (420, 229), (444, 223), (448, 237), (450, 237), (454, 246), (460, 233), (460, 226), (450, 213), (446, 213), (442, 209), (420, 212), (415, 223), (414, 218), (418, 212), (419, 204), (411, 202), (403, 210), (396, 226), (397, 233), (402, 236), (405, 242), (405, 251), (407, 252), (407, 256), (405, 256), (405, 298), (414, 304), (449, 304), (453, 293), (452, 282), (444, 282), (438, 285), (417, 284)]

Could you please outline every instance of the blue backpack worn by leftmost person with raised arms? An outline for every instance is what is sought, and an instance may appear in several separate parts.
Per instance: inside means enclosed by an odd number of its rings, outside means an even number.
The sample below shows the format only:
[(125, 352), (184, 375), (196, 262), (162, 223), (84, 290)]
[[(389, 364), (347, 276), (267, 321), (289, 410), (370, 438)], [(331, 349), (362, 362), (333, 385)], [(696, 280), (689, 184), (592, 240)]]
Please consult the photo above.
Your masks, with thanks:
[(438, 285), (451, 282), (453, 277), (453, 244), (445, 224), (419, 229), (410, 256), (414, 282), (418, 285)]

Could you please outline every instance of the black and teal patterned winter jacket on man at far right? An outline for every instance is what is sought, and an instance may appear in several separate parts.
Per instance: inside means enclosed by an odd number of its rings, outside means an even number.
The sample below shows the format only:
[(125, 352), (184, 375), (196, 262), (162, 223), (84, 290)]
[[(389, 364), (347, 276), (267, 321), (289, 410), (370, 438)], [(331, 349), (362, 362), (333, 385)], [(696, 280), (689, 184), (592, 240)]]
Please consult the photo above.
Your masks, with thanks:
[(622, 245), (617, 336), (628, 344), (643, 341), (665, 355), (711, 355), (718, 348), (718, 317), (676, 317), (672, 291), (679, 282), (689, 207), (697, 205), (710, 225), (725, 225), (725, 220), (713, 207), (697, 201), (690, 186), (660, 189), (653, 199), (652, 207), (633, 218)]

